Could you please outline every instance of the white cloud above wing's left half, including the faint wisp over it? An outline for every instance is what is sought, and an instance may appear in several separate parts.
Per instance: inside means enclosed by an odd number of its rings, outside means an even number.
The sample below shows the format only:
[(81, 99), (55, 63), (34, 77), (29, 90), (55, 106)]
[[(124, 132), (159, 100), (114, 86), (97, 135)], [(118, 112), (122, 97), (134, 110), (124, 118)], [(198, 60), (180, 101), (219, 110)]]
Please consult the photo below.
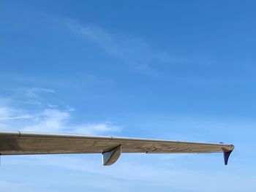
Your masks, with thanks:
[[(21, 102), (33, 98), (40, 101), (42, 93), (55, 93), (48, 88), (19, 88), (23, 91)], [(16, 93), (18, 95), (18, 93)], [(25, 97), (24, 97), (25, 96)], [(17, 98), (17, 96), (15, 97)], [(51, 133), (72, 133), (72, 134), (105, 134), (108, 132), (121, 131), (121, 126), (113, 125), (110, 121), (75, 123), (72, 120), (74, 108), (69, 106), (59, 107), (56, 104), (41, 104), (37, 107), (13, 107), (12, 96), (8, 102), (2, 101), (0, 104), (0, 128), (4, 130), (41, 131)], [(62, 110), (60, 109), (62, 108)], [(63, 110), (64, 109), (64, 110)]]

